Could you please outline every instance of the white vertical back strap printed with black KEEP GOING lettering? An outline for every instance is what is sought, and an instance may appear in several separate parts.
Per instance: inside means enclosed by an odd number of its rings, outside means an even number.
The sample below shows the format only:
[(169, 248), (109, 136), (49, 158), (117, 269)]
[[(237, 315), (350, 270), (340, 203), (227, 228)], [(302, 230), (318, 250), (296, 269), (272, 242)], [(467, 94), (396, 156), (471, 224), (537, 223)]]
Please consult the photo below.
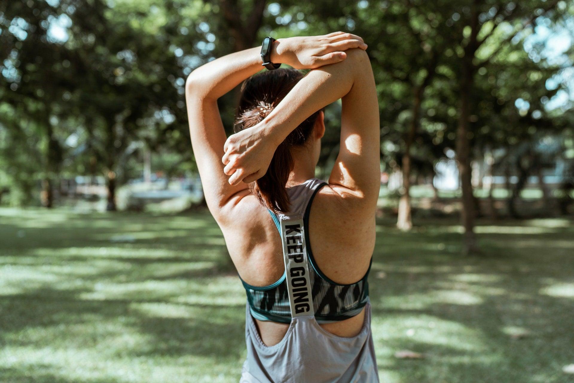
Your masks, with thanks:
[(291, 317), (314, 315), (302, 217), (281, 217), (281, 240)]

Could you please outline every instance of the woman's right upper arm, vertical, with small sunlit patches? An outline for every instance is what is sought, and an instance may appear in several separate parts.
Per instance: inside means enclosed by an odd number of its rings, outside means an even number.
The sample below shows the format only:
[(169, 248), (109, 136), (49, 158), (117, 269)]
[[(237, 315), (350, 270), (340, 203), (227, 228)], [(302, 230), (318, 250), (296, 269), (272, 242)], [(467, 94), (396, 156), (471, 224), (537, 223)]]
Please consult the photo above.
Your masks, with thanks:
[(358, 55), (354, 59), (359, 75), (342, 98), (340, 150), (329, 183), (340, 194), (376, 203), (381, 186), (377, 92), (367, 53), (355, 50), (352, 54)]

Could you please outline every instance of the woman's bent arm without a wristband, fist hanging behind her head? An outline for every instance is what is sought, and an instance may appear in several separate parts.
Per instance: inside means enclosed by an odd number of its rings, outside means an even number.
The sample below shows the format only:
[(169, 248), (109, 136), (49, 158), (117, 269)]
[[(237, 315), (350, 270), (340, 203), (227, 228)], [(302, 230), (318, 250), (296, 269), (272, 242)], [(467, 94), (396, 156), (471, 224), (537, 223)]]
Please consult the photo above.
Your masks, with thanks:
[(231, 176), (231, 185), (262, 177), (278, 144), (305, 118), (339, 98), (340, 150), (329, 183), (340, 194), (376, 202), (380, 187), (379, 109), (369, 57), (361, 49), (347, 51), (343, 62), (309, 71), (261, 123), (227, 139), (222, 162), (227, 164), (224, 172)]

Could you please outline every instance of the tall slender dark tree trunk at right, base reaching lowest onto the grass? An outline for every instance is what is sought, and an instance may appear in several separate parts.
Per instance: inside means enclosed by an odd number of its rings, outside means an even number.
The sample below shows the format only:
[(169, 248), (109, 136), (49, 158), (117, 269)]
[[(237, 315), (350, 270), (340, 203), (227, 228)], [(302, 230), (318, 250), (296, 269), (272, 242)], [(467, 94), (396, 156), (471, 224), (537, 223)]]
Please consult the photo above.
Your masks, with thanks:
[[(465, 61), (468, 61), (465, 60)], [(460, 83), (460, 114), (456, 129), (456, 156), (458, 159), (460, 183), (462, 188), (461, 224), (464, 230), (463, 252), (466, 255), (478, 252), (476, 235), (474, 233), (475, 202), (472, 195), (470, 137), (468, 118), (470, 117), (470, 95), (472, 92), (473, 72), (472, 63), (463, 64), (463, 74)]]

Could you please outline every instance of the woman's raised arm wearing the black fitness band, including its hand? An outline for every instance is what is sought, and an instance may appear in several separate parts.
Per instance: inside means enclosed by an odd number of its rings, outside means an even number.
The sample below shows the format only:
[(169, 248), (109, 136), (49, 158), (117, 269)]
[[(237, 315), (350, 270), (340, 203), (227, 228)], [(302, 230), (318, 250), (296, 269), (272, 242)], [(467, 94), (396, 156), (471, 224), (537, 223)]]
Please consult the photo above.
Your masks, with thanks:
[[(366, 48), (363, 40), (348, 33), (290, 37), (273, 44), (271, 59), (294, 68), (310, 69), (340, 62), (344, 51)], [(230, 185), (223, 173), (221, 158), (226, 134), (217, 99), (262, 69), (259, 48), (231, 53), (194, 70), (185, 83), (185, 98), (193, 154), (199, 168), (205, 200), (218, 219), (222, 206), (248, 194), (246, 185)]]

